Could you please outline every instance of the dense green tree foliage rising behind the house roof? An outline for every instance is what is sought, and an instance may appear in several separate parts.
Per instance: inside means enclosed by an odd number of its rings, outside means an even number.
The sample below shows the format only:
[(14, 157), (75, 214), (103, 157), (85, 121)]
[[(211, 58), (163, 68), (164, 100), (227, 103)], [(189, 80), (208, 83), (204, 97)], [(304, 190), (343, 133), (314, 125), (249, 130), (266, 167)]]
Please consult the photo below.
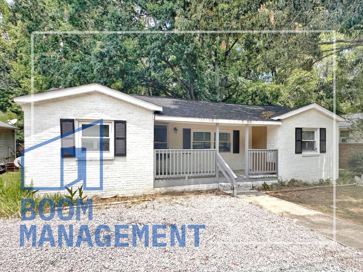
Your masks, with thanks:
[[(30, 35), (56, 30), (337, 31), (337, 112), (362, 112), (359, 1), (0, 0), (0, 110), (22, 119)], [(333, 109), (332, 33), (35, 34), (34, 91), (97, 82), (144, 95)]]

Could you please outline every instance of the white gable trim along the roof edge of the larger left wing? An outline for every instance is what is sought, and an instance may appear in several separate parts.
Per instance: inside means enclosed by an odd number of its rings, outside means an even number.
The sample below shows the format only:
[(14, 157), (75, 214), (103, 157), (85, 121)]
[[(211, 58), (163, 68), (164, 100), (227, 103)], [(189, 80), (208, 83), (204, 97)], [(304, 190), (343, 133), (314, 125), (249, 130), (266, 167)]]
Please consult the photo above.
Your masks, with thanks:
[(32, 102), (40, 102), (40, 101), (45, 101), (45, 100), (49, 100), (49, 99), (62, 98), (62, 97), (66, 97), (66, 96), (84, 94), (87, 92), (94, 92), (94, 91), (112, 96), (114, 98), (129, 102), (131, 104), (135, 104), (136, 106), (140, 106), (140, 107), (146, 108), (148, 110), (152, 110), (152, 111), (162, 111), (163, 110), (163, 107), (161, 107), (161, 106), (158, 106), (151, 102), (147, 102), (142, 99), (138, 99), (134, 96), (124, 94), (123, 92), (116, 91), (116, 90), (113, 90), (111, 88), (108, 88), (108, 87), (105, 87), (105, 86), (102, 86), (102, 85), (99, 85), (96, 83), (77, 86), (77, 87), (71, 87), (71, 88), (65, 88), (65, 89), (56, 89), (56, 90), (41, 92), (41, 93), (33, 94), (33, 95), (19, 96), (19, 97), (14, 98), (14, 101), (17, 104), (22, 105), (22, 104), (27, 104), (27, 103), (32, 103)]

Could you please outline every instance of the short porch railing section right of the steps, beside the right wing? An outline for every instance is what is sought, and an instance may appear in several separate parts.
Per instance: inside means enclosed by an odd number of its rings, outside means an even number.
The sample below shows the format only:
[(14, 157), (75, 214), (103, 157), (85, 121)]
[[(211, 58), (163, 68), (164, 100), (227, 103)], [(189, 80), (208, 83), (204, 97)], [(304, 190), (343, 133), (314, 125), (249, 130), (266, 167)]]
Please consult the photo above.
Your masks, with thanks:
[(249, 174), (277, 174), (277, 149), (248, 149)]

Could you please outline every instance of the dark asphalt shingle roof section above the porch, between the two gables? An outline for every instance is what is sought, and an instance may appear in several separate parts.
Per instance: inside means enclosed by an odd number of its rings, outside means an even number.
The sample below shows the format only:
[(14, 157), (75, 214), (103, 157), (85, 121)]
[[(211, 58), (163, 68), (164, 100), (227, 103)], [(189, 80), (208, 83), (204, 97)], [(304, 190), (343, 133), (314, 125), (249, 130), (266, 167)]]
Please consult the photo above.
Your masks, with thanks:
[[(284, 114), (295, 110), (281, 106), (257, 106), (242, 105), (222, 102), (208, 102), (179, 98), (167, 98), (161, 96), (132, 95), (144, 101), (163, 107), (163, 111), (157, 113), (165, 116), (213, 118), (229, 120), (264, 121), (272, 120), (269, 117)], [(305, 106), (305, 105), (304, 105)]]

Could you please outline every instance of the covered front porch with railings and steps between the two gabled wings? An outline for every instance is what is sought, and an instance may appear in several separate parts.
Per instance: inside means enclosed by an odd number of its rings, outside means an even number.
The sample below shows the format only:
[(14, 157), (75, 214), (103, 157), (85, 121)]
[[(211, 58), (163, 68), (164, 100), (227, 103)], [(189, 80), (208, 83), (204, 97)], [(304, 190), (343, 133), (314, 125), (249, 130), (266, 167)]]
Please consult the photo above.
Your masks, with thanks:
[(277, 126), (155, 121), (154, 187), (277, 180)]

